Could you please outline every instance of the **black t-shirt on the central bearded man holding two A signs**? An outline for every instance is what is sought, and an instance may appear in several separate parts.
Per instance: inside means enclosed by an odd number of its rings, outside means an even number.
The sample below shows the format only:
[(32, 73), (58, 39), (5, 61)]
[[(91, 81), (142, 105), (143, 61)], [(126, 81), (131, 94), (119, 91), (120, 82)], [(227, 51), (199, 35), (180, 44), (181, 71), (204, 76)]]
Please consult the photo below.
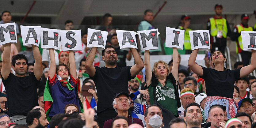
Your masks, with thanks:
[(133, 79), (131, 76), (131, 66), (125, 67), (97, 67), (95, 74), (89, 76), (95, 83), (98, 91), (98, 113), (109, 108), (113, 108), (113, 97), (117, 93), (128, 93), (128, 81)]

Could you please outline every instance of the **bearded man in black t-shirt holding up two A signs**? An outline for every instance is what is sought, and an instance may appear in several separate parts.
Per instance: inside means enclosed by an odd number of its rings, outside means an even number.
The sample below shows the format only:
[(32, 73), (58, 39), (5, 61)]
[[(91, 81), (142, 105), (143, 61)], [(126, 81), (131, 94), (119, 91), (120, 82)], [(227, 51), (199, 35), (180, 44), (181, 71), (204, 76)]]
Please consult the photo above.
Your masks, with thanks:
[(118, 67), (117, 53), (113, 46), (106, 46), (102, 51), (102, 59), (105, 61), (105, 67), (93, 66), (97, 47), (92, 47), (86, 58), (85, 67), (90, 78), (95, 82), (98, 91), (97, 115), (100, 127), (108, 119), (117, 116), (113, 109), (112, 101), (115, 94), (120, 92), (128, 93), (127, 83), (133, 79), (144, 67), (144, 63), (135, 48), (130, 48), (135, 65)]

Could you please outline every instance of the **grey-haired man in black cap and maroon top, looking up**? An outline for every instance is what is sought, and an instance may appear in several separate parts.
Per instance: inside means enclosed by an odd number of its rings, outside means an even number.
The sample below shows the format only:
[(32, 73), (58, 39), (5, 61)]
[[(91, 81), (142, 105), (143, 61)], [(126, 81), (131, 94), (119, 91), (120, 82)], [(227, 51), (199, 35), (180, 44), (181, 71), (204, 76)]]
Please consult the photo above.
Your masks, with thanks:
[[(128, 125), (131, 125), (133, 123), (137, 123), (139, 125), (143, 126), (143, 123), (138, 118), (132, 118), (130, 115), (128, 115), (128, 110), (130, 107), (130, 101), (129, 101), (129, 95), (128, 93), (121, 92), (114, 96), (113, 98), (113, 108), (117, 112), (117, 116), (123, 116), (129, 120)], [(111, 122), (113, 119), (109, 119), (104, 123), (103, 128), (111, 128)]]

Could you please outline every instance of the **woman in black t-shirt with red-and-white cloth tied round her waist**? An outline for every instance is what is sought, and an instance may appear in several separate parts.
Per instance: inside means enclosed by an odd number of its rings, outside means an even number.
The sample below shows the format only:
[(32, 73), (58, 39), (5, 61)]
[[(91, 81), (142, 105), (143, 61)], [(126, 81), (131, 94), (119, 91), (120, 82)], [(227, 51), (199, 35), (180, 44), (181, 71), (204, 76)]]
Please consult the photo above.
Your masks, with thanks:
[[(204, 104), (204, 119), (208, 118), (210, 106), (220, 104), (227, 107), (227, 119), (234, 118), (237, 106), (233, 98), (234, 83), (240, 77), (247, 76), (256, 68), (256, 62), (239, 69), (227, 69), (227, 58), (221, 51), (214, 51), (211, 56), (214, 68), (205, 68), (195, 63), (199, 49), (192, 51), (188, 65), (190, 69), (204, 79), (206, 83), (207, 101)], [(252, 50), (251, 60), (256, 59), (256, 50)]]

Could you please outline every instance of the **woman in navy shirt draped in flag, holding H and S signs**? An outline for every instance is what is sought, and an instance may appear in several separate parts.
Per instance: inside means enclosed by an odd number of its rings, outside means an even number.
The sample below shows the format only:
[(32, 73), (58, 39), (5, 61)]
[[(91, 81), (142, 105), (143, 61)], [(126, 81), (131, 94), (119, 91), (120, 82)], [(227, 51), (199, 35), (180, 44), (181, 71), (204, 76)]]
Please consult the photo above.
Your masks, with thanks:
[[(67, 53), (67, 52), (64, 52)], [(52, 48), (49, 49), (50, 69), (48, 86), (44, 89), (44, 109), (47, 117), (63, 113), (67, 104), (75, 104), (80, 110), (80, 103), (77, 93), (77, 74), (74, 52), (68, 52), (70, 68), (65, 63), (55, 65), (55, 55)]]

